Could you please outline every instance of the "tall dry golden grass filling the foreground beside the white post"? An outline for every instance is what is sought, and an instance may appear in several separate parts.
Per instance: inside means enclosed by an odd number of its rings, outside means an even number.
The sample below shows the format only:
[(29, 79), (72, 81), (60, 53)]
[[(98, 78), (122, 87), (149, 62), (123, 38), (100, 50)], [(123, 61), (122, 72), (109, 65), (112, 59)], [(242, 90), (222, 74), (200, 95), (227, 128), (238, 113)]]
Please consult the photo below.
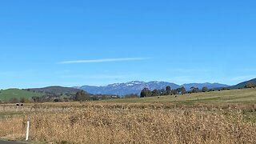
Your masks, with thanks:
[(30, 119), (32, 142), (256, 143), (256, 123), (244, 119), (238, 104), (220, 106), (44, 104), (0, 118), (0, 137), (24, 139)]

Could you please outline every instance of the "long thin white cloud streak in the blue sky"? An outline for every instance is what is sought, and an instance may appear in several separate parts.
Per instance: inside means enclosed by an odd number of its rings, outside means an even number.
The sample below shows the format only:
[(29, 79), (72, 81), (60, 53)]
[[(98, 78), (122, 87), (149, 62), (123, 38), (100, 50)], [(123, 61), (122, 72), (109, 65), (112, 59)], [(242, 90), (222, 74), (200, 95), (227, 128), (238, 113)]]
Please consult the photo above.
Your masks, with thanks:
[(99, 62), (124, 62), (124, 61), (139, 61), (149, 58), (106, 58), (106, 59), (89, 59), (58, 62), (58, 64), (73, 64), (73, 63), (99, 63)]

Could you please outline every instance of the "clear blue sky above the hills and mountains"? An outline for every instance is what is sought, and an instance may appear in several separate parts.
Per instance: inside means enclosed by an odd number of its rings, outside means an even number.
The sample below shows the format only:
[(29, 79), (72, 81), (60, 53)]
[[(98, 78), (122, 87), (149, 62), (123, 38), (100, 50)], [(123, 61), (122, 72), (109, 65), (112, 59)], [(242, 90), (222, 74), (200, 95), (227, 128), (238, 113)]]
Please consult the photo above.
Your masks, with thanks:
[(256, 78), (255, 0), (0, 2), (0, 89)]

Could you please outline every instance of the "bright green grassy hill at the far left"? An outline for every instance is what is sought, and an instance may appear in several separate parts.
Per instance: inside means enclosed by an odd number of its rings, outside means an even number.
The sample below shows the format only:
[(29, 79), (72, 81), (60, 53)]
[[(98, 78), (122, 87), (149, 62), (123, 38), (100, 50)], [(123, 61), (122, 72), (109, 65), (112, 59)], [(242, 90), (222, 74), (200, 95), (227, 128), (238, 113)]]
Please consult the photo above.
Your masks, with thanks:
[(34, 93), (26, 90), (19, 90), (19, 89), (8, 89), (8, 90), (1, 90), (0, 91), (0, 100), (2, 102), (10, 100), (11, 98), (31, 98), (31, 97), (40, 97), (42, 94)]

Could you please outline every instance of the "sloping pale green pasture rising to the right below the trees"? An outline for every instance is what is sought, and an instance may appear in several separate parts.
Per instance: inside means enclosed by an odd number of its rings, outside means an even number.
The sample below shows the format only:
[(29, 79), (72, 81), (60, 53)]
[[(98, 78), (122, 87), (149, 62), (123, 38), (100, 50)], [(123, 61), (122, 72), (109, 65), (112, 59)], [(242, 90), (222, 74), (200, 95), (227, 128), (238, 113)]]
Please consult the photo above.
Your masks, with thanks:
[(193, 103), (213, 103), (213, 102), (253, 102), (256, 103), (256, 89), (222, 90), (208, 93), (195, 93), (170, 96), (149, 97), (149, 98), (119, 98), (101, 102), (181, 102)]

